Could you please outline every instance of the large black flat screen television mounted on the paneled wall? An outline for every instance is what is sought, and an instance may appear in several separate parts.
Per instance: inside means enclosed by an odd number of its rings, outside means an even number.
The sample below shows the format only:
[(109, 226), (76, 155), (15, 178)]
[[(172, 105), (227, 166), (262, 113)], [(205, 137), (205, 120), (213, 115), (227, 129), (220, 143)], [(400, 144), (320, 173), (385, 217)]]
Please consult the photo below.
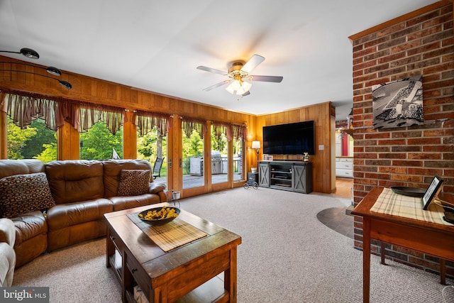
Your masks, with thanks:
[(271, 155), (315, 155), (314, 121), (263, 127), (263, 153)]

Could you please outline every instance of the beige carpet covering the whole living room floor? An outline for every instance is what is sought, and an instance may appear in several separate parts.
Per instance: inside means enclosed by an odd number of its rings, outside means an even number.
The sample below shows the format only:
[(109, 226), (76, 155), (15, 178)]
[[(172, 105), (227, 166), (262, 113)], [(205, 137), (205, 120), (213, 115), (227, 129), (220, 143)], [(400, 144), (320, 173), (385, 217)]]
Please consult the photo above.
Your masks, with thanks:
[[(316, 218), (347, 206), (330, 194), (231, 189), (181, 200), (181, 208), (243, 238), (238, 302), (362, 302), (362, 252)], [(105, 240), (40, 256), (18, 268), (14, 286), (49, 286), (50, 302), (121, 302), (105, 267)], [(371, 302), (444, 302), (438, 275), (372, 256)], [(452, 280), (448, 280), (453, 284)], [(454, 289), (444, 290), (454, 302)]]

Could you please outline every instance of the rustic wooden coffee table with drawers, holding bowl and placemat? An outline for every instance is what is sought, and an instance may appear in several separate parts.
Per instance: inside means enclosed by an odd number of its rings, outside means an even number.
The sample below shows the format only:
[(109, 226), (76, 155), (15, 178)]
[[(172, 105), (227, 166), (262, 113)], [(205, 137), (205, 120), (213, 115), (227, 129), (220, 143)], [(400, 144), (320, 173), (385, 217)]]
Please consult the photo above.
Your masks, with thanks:
[[(128, 214), (166, 203), (105, 214), (106, 266), (113, 267), (123, 302), (138, 285), (148, 302), (236, 302), (236, 258), (241, 237), (181, 209), (177, 219), (207, 234), (165, 252)], [(218, 276), (223, 272), (223, 282)]]

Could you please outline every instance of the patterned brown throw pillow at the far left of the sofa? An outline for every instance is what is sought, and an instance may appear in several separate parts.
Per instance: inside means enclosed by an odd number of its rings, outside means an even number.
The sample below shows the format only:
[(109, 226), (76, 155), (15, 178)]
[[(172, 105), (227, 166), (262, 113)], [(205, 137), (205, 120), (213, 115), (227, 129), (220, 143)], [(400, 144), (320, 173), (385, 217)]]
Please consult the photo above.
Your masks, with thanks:
[(55, 206), (44, 172), (0, 179), (0, 203), (6, 218)]

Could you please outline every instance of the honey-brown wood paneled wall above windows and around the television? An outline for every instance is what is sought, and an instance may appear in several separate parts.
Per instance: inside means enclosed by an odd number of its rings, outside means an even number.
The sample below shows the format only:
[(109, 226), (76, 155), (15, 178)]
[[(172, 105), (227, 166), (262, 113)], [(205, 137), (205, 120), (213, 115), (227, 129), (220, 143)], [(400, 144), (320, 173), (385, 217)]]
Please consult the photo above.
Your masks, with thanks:
[[(0, 70), (23, 70), (33, 72), (39, 75), (47, 76), (43, 68), (23, 66), (21, 60), (13, 60), (9, 57), (0, 56)], [(11, 62), (11, 63), (10, 63)], [(15, 64), (19, 63), (19, 64)], [(39, 66), (39, 65), (36, 65)], [(178, 99), (170, 96), (163, 96), (153, 92), (146, 92), (133, 87), (128, 87), (114, 82), (108, 82), (101, 79), (95, 79), (84, 75), (77, 75), (71, 72), (62, 71), (59, 78), (72, 84), (72, 89), (62, 87), (57, 81), (47, 77), (40, 77), (21, 72), (0, 72), (0, 90), (4, 92), (26, 92), (28, 94), (38, 94), (43, 97), (59, 97), (68, 100), (87, 101), (94, 104), (105, 104), (109, 106), (118, 106), (132, 112), (135, 109), (156, 111), (164, 114), (170, 114), (172, 117), (191, 116), (194, 118), (226, 121), (230, 123), (245, 124), (248, 126), (248, 138), (246, 142), (246, 169), (256, 165), (255, 150), (248, 150), (252, 141), (262, 141), (262, 126), (277, 123), (292, 123), (296, 121), (316, 121), (316, 156), (314, 161), (314, 191), (330, 193), (333, 191), (335, 184), (335, 174), (333, 172), (334, 154), (331, 153), (331, 145), (334, 145), (334, 117), (330, 115), (331, 102), (317, 104), (315, 106), (306, 106), (300, 109), (283, 111), (282, 113), (269, 114), (264, 116), (255, 116), (250, 114), (238, 113), (221, 109), (216, 106), (201, 104), (196, 101)], [(284, 101), (284, 100), (283, 100)], [(126, 113), (128, 114), (128, 113)], [(171, 131), (177, 121), (170, 123)], [(0, 127), (4, 128), (4, 126)], [(135, 140), (131, 140), (132, 134), (135, 133), (135, 127), (132, 123), (126, 123), (123, 126), (125, 138), (123, 142), (123, 157), (135, 158), (136, 145)], [(5, 129), (0, 130), (5, 131)], [(127, 134), (131, 136), (126, 136)], [(170, 135), (171, 136), (171, 135)], [(179, 138), (171, 136), (170, 138)], [(58, 139), (63, 144), (59, 145), (58, 157), (61, 160), (77, 159), (79, 157), (79, 134), (70, 126), (64, 126), (58, 131)], [(169, 157), (177, 155), (179, 143), (172, 140), (169, 144)], [(3, 141), (5, 142), (5, 141)], [(4, 144), (1, 143), (0, 144)], [(323, 145), (324, 150), (319, 150), (318, 146)], [(172, 150), (172, 146), (173, 150)], [(1, 150), (3, 150), (1, 148)], [(6, 155), (2, 155), (5, 157)], [(168, 159), (170, 160), (170, 159)], [(298, 159), (300, 160), (300, 159)], [(252, 164), (252, 165), (251, 165)], [(177, 167), (177, 160), (173, 161), (173, 167)], [(172, 172), (169, 176), (172, 177)], [(334, 180), (334, 181), (333, 181)]]

